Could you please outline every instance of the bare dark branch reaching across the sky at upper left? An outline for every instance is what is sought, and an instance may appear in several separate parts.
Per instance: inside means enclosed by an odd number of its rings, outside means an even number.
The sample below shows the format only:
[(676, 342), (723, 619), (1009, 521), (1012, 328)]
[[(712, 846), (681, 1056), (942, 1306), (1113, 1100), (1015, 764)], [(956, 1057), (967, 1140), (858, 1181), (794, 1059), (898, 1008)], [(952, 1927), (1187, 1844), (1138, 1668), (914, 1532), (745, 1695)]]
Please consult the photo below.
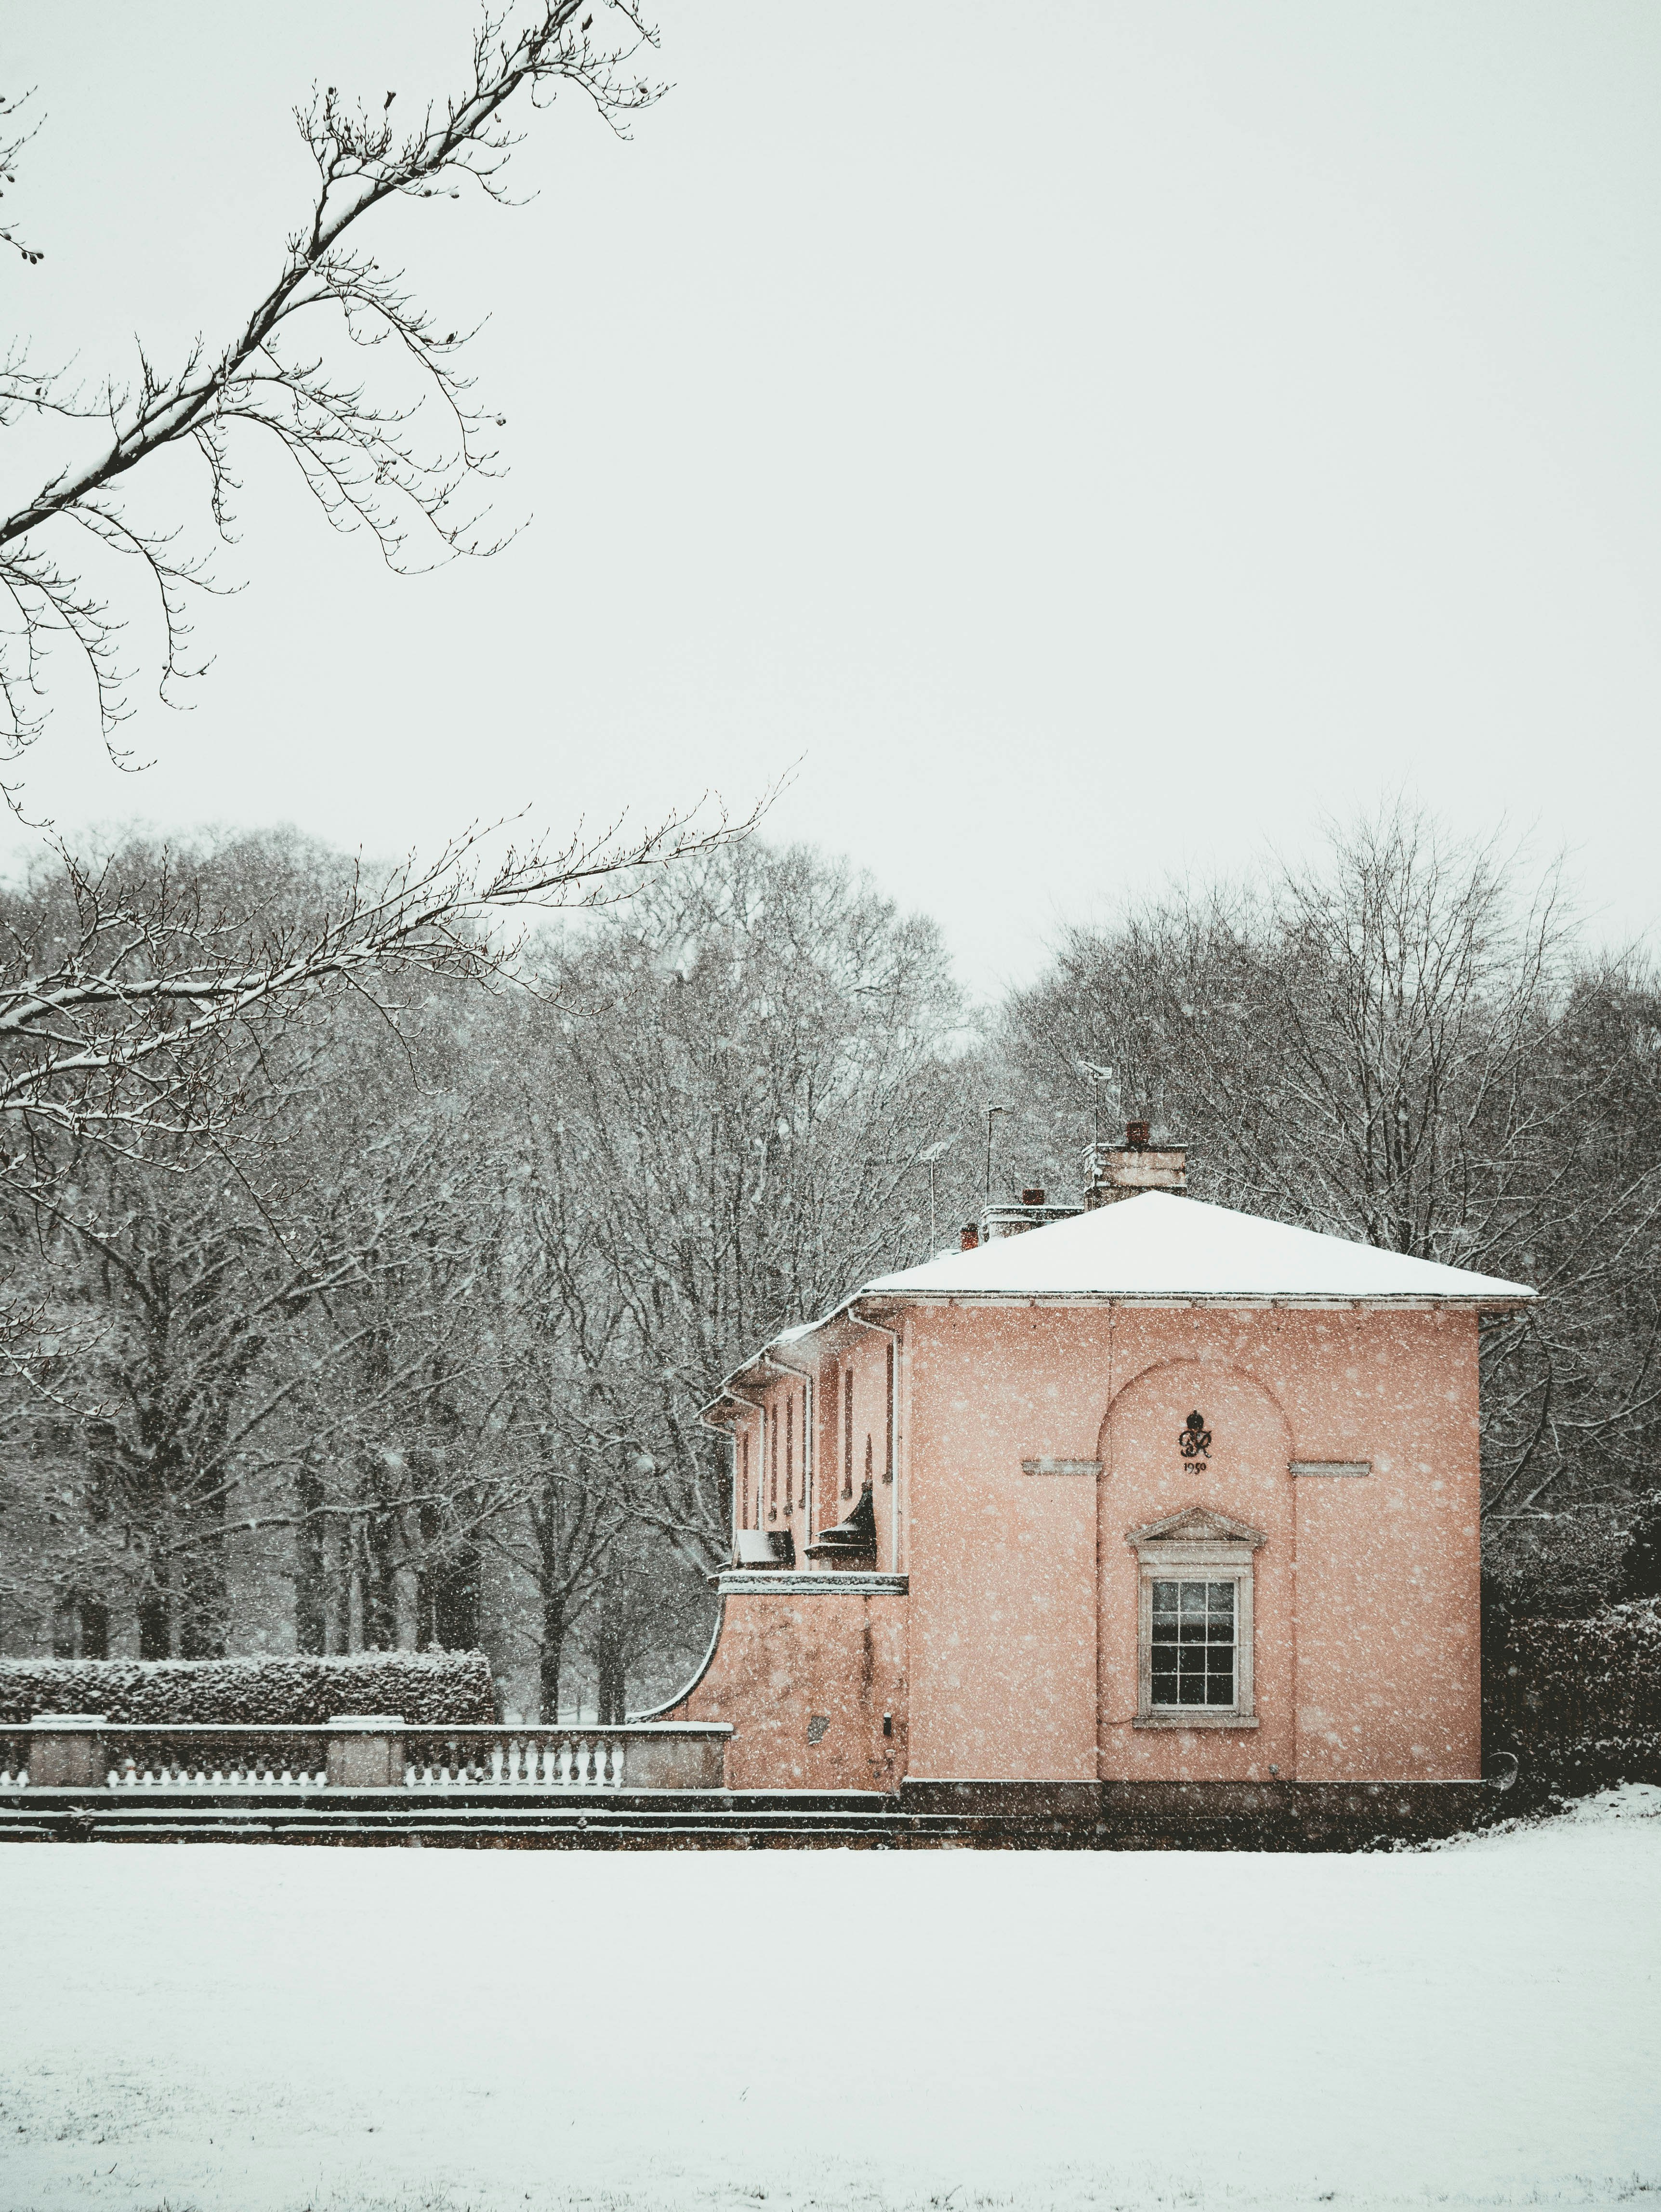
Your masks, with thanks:
[[(621, 35), (597, 35), (595, 15)], [(195, 453), (221, 540), (234, 533), (239, 451), (263, 438), (288, 453), (325, 520), (367, 531), (394, 568), (493, 551), (476, 493), (495, 469), (502, 416), (473, 398), (458, 367), (469, 334), (447, 330), (376, 261), (369, 219), (389, 199), (456, 197), (467, 181), (502, 199), (515, 95), (544, 106), (571, 88), (626, 133), (655, 97), (635, 66), (652, 42), (635, 0), (535, 0), (522, 29), (484, 18), (467, 82), (409, 131), (394, 124), (396, 91), (363, 106), (327, 86), (296, 113), (316, 166), (312, 204), (221, 343), (199, 338), (177, 367), (139, 347), (130, 383), (111, 376), (91, 389), (42, 372), (22, 345), (0, 361), (0, 427), (97, 425), (91, 449), (71, 449), (0, 518), (0, 588), (13, 613), (0, 630), (0, 745), (13, 761), (44, 723), (42, 655), (53, 637), (91, 675), (111, 748), (133, 712), (124, 608), (148, 595), (164, 697), (199, 672), (188, 595), (210, 588), (206, 555), (186, 549), (177, 520), (148, 522), (130, 500), (135, 471), (148, 482), (157, 453)], [(0, 104), (0, 133), (15, 131), (15, 106)], [(0, 170), (13, 173), (20, 146), (13, 137), (0, 148)], [(35, 259), (13, 232), (0, 237)]]

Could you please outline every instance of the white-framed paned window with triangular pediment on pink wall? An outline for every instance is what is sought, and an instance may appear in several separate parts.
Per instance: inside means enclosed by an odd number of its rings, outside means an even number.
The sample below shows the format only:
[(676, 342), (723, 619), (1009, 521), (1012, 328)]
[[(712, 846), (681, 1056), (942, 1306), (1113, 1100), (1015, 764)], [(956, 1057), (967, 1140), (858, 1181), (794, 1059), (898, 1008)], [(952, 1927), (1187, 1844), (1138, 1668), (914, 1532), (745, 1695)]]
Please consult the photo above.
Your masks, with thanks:
[(1137, 1728), (1256, 1728), (1258, 1528), (1190, 1506), (1128, 1528), (1137, 1555)]

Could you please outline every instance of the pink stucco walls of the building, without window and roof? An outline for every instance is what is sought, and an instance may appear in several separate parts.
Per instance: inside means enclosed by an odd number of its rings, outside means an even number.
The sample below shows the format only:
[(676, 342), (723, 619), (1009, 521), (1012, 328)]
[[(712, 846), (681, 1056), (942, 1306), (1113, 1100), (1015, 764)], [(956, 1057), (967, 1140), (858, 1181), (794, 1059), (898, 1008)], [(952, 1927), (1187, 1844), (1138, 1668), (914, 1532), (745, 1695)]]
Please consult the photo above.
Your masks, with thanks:
[[(1480, 1772), (1475, 1314), (918, 1305), (902, 1332), (894, 1486), (885, 1340), (840, 1365), (854, 1498), (871, 1436), (878, 1566), (909, 1573), (909, 1599), (728, 1599), (686, 1712), (734, 1723), (734, 1787)], [(840, 1365), (818, 1369), (814, 1528), (849, 1509)], [(1190, 1409), (1212, 1429), (1203, 1469), (1177, 1447)], [(1104, 1471), (1022, 1473), (1040, 1458)], [(1289, 1460), (1373, 1471), (1294, 1480)], [(1265, 1537), (1256, 1728), (1135, 1725), (1126, 1531), (1185, 1506)], [(801, 1548), (801, 1502), (792, 1526)]]

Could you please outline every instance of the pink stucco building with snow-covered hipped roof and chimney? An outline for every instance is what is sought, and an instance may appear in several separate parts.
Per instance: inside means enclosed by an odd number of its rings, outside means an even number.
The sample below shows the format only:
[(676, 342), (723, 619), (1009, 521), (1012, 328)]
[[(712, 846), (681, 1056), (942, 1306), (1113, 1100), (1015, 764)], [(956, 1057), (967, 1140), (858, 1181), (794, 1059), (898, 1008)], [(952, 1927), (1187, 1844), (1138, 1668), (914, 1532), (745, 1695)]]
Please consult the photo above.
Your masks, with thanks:
[(706, 1409), (734, 1564), (675, 1710), (730, 1787), (1480, 1774), (1477, 1327), (1533, 1292), (1203, 1206), (1137, 1137)]

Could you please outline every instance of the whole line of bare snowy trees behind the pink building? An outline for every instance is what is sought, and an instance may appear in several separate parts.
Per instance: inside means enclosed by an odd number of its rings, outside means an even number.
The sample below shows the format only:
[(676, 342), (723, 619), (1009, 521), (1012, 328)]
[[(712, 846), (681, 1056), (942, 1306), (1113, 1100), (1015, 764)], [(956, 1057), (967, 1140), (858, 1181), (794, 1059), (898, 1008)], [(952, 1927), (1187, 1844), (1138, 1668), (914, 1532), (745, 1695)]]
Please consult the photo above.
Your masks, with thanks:
[(1533, 1610), (1623, 1588), (1661, 995), (1550, 878), (1398, 810), (971, 1006), (825, 854), (630, 858), (513, 940), (467, 900), (376, 936), (290, 834), (0, 896), (0, 1648), (484, 1641), (544, 1714), (672, 1690), (728, 1551), (697, 1409), (955, 1241), (989, 1104), (993, 1197), (1150, 1119), (1201, 1199), (1546, 1290), (1484, 1327), (1484, 1559)]

